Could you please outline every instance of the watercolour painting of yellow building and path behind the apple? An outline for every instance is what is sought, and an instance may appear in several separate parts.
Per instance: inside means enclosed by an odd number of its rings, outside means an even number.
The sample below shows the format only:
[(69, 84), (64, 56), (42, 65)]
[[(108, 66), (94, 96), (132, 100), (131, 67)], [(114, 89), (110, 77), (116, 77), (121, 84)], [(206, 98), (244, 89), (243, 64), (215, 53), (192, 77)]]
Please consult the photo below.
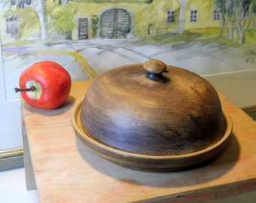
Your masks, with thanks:
[(72, 80), (152, 58), (200, 75), (252, 69), (255, 20), (256, 0), (0, 0), (5, 82), (41, 60)]

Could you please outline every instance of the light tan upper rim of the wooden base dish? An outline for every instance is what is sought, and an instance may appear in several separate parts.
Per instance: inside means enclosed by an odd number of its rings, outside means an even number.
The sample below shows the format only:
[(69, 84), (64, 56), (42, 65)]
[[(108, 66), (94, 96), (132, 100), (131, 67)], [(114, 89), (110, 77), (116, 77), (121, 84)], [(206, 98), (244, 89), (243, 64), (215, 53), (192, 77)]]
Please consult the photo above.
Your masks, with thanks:
[[(197, 152), (194, 153), (187, 153), (187, 154), (181, 154), (181, 155), (167, 155), (167, 156), (155, 156), (155, 155), (146, 155), (146, 154), (141, 154), (141, 153), (131, 153), (131, 152), (127, 152), (124, 150), (119, 150), (117, 148), (108, 146), (106, 144), (103, 144), (99, 141), (96, 141), (96, 139), (92, 138), (81, 126), (81, 120), (80, 120), (80, 114), (81, 114), (81, 108), (82, 105), (84, 103), (84, 98), (81, 99), (80, 101), (78, 101), (77, 103), (75, 103), (73, 109), (72, 109), (72, 118), (71, 118), (71, 122), (72, 122), (72, 126), (73, 129), (76, 132), (76, 135), (80, 137), (80, 139), (83, 139), (84, 141), (86, 141), (89, 144), (85, 144), (87, 145), (87, 147), (90, 147), (88, 145), (93, 145), (95, 147), (99, 147), (102, 150), (117, 154), (119, 156), (123, 156), (123, 157), (133, 157), (136, 159), (154, 159), (154, 160), (169, 160), (169, 159), (187, 159), (187, 158), (193, 158), (196, 156), (203, 156), (203, 154), (209, 153), (212, 150), (214, 150), (215, 148), (221, 147), (221, 145), (226, 144), (227, 143), (227, 139), (230, 137), (230, 135), (232, 134), (233, 131), (233, 122), (231, 120), (230, 115), (227, 113), (227, 111), (222, 108), (222, 112), (224, 115), (224, 120), (226, 123), (226, 131), (224, 132), (224, 135), (222, 136), (221, 139), (219, 139), (215, 144), (212, 144), (209, 147), (206, 147), (203, 150), (199, 150)], [(92, 147), (90, 147), (92, 149)], [(94, 149), (92, 149), (94, 150)]]

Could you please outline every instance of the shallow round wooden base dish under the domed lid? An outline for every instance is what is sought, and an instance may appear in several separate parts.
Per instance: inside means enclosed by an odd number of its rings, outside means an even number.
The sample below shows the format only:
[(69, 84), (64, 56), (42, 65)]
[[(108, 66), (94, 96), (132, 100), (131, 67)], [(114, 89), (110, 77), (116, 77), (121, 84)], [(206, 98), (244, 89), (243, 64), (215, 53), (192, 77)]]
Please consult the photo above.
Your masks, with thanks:
[(167, 172), (178, 171), (192, 168), (208, 159), (212, 159), (221, 150), (226, 147), (232, 132), (232, 121), (224, 111), (225, 120), (227, 120), (227, 130), (215, 144), (206, 149), (196, 151), (189, 154), (170, 155), (170, 156), (151, 156), (139, 153), (130, 153), (118, 150), (114, 147), (103, 144), (89, 135), (81, 126), (81, 109), (83, 101), (78, 102), (72, 110), (72, 126), (78, 138), (91, 150), (111, 162), (123, 165), (126, 168), (133, 168), (141, 171)]

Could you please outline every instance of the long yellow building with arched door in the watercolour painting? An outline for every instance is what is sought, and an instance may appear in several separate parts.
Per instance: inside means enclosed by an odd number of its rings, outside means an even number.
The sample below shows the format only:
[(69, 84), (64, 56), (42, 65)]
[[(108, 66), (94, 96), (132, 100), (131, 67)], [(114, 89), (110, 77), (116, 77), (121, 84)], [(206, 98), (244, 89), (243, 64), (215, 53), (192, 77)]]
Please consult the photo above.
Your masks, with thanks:
[[(62, 39), (65, 36), (72, 40), (143, 38), (148, 35), (187, 31), (219, 32), (221, 17), (214, 2), (47, 0), (41, 5), (41, 10), (36, 10), (32, 5), (25, 5), (23, 8), (5, 5), (5, 9), (0, 11), (2, 41)], [(12, 27), (10, 31), (9, 27), (14, 25), (16, 27)]]

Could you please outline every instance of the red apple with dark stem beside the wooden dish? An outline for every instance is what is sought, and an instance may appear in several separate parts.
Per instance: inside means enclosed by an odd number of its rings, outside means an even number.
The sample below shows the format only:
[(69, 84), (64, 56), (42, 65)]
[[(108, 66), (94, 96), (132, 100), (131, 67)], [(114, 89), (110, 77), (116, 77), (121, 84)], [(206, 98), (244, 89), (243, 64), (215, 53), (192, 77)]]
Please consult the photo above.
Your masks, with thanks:
[(52, 61), (36, 62), (20, 75), (20, 89), (26, 103), (37, 108), (54, 109), (69, 97), (71, 77), (62, 65)]

